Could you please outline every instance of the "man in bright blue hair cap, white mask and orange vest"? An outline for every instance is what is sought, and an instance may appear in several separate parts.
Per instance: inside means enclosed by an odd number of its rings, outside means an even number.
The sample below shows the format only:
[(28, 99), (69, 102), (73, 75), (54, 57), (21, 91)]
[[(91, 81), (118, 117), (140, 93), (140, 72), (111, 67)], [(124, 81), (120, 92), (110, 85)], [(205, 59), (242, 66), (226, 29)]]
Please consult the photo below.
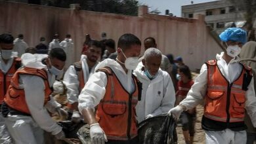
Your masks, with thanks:
[[(256, 127), (256, 97), (251, 68), (240, 63), (246, 32), (230, 27), (219, 35), (224, 52), (202, 65), (185, 99), (169, 111), (179, 117), (204, 101), (202, 128), (205, 143), (246, 143), (245, 113)], [(246, 110), (246, 111), (245, 111)]]

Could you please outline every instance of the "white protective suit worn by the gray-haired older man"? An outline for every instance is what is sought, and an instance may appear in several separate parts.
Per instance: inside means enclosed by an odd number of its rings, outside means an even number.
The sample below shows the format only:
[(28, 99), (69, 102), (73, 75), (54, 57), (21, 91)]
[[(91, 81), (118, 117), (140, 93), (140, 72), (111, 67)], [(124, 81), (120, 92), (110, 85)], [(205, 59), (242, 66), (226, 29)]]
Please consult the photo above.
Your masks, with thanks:
[[(139, 65), (142, 63), (140, 62)], [(175, 90), (171, 77), (166, 71), (159, 69), (156, 78), (152, 80), (144, 74), (140, 67), (137, 67), (133, 73), (142, 82), (141, 100), (136, 105), (139, 123), (145, 118), (167, 113), (169, 109), (173, 108)]]

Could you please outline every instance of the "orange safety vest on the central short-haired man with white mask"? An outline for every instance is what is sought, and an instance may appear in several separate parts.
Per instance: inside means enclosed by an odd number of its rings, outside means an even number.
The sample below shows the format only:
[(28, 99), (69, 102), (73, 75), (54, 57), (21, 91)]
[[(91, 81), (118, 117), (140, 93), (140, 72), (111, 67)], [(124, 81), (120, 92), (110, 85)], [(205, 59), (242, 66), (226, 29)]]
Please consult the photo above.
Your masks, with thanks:
[(137, 120), (135, 106), (138, 103), (139, 90), (137, 79), (135, 92), (129, 94), (121, 85), (109, 67), (98, 69), (108, 77), (106, 94), (96, 109), (96, 120), (104, 130), (108, 139), (127, 141), (137, 136)]

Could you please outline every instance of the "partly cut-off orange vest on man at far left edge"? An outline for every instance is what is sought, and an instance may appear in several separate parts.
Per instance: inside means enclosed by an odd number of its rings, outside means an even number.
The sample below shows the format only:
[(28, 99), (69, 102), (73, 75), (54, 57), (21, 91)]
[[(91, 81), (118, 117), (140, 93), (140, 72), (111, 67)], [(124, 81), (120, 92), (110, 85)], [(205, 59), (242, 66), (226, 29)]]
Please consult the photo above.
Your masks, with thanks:
[(3, 73), (3, 71), (0, 69), (0, 105), (3, 103), (3, 98), (5, 97), (7, 89), (11, 83), (11, 78), (20, 67), (20, 65), (20, 58), (14, 58), (12, 65), (7, 73)]

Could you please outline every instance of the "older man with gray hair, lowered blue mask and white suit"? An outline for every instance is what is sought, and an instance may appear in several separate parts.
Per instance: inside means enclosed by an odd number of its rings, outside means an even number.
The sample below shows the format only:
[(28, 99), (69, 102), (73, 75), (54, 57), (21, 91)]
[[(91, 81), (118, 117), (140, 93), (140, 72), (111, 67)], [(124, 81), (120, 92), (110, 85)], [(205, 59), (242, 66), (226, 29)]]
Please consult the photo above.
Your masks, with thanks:
[(160, 50), (148, 48), (144, 52), (142, 64), (143, 67), (137, 67), (134, 71), (142, 82), (142, 96), (136, 106), (138, 122), (167, 113), (175, 103), (173, 81), (166, 71), (160, 69)]

